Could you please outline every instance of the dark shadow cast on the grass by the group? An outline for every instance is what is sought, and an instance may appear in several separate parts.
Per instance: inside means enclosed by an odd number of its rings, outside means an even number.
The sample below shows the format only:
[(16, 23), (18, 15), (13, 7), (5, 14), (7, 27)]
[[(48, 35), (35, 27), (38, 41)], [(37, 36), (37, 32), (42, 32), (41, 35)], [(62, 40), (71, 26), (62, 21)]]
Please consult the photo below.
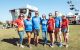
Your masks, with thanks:
[[(9, 39), (2, 39), (1, 42), (7, 42), (13, 45), (16, 45), (16, 42), (19, 41), (19, 38), (9, 38)], [(23, 45), (27, 44), (27, 38), (24, 38)], [(50, 41), (48, 41), (50, 43)], [(31, 38), (31, 44), (34, 44), (34, 38)], [(43, 45), (43, 40), (39, 39), (39, 44)]]

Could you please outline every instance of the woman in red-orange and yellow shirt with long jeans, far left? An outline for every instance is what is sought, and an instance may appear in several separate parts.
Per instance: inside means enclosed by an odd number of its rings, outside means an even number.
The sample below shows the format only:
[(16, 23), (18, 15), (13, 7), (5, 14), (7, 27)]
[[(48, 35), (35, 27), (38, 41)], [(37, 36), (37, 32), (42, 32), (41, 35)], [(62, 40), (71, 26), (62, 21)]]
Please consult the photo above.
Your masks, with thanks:
[(24, 22), (23, 22), (23, 17), (24, 15), (20, 14), (18, 19), (16, 19), (14, 25), (17, 26), (17, 31), (18, 31), (18, 35), (20, 37), (20, 40), (19, 42), (17, 43), (17, 45), (21, 48), (24, 48), (24, 46), (22, 45), (22, 42), (23, 42), (23, 36), (24, 36)]

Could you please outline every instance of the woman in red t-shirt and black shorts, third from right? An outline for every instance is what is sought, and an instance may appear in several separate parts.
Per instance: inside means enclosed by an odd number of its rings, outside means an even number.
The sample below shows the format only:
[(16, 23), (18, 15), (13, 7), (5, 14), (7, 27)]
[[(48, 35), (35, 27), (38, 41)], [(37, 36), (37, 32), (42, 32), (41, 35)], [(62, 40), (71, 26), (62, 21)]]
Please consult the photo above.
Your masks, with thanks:
[(52, 18), (52, 13), (49, 13), (49, 20), (48, 20), (48, 33), (50, 36), (50, 47), (54, 46), (54, 29), (55, 29), (55, 20)]

